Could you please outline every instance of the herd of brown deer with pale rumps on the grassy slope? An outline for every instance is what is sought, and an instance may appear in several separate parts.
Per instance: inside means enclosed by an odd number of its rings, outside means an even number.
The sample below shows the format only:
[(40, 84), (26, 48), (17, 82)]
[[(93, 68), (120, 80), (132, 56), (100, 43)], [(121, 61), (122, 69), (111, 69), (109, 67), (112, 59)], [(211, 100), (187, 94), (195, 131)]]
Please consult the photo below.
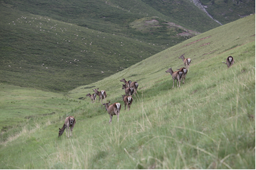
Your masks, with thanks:
[[(181, 67), (180, 69), (178, 69), (178, 71), (173, 71), (172, 67), (170, 67), (168, 70), (166, 70), (166, 73), (170, 73), (172, 75), (172, 79), (173, 79), (173, 85), (172, 88), (174, 88), (174, 81), (177, 80), (177, 87), (178, 87), (178, 82), (179, 82), (179, 87), (180, 87), (180, 81), (184, 80), (186, 78), (186, 75), (188, 73), (189, 67), (190, 67), (190, 63), (191, 63), (191, 59), (190, 58), (185, 58), (184, 54), (182, 54), (182, 56), (180, 56), (179, 58), (182, 59), (182, 61), (184, 62), (184, 66), (185, 67)], [(234, 64), (234, 59), (232, 56), (229, 56), (226, 60), (226, 62), (223, 62), (224, 64), (227, 64), (227, 67), (231, 67), (231, 65)], [(136, 92), (138, 89), (138, 83), (136, 81), (132, 82), (132, 81), (126, 81), (126, 79), (121, 79), (120, 81), (124, 82), (124, 84), (122, 84), (122, 89), (124, 89), (124, 92), (126, 93), (126, 95), (122, 95), (122, 100), (124, 101), (124, 110), (126, 110), (126, 105), (128, 107), (128, 111), (130, 110), (130, 106), (132, 105), (132, 95), (136, 96)], [(92, 89), (94, 91), (94, 93), (92, 95), (90, 95), (90, 93), (88, 93), (86, 96), (90, 97), (92, 103), (94, 103), (94, 101), (96, 101), (96, 95), (98, 95), (99, 99), (98, 101), (100, 101), (101, 99), (101, 103), (103, 99), (106, 99), (106, 91), (102, 90), (102, 91), (98, 91), (98, 89)], [(105, 100), (104, 100), (105, 101)], [(113, 103), (112, 105), (110, 105), (110, 101), (108, 101), (108, 103), (102, 103), (102, 105), (104, 105), (106, 107), (106, 110), (108, 111), (108, 114), (110, 116), (110, 120), (108, 121), (108, 123), (112, 122), (112, 117), (114, 115), (117, 116), (117, 121), (119, 120), (119, 114), (120, 114), (120, 109), (121, 109), (121, 104), (120, 103)], [(63, 128), (59, 128), (59, 137), (63, 134), (65, 128), (66, 128), (66, 133), (67, 136), (68, 134), (70, 134), (70, 136), (72, 136), (72, 130), (74, 128), (74, 124), (76, 124), (76, 120), (74, 119), (74, 116), (68, 116), (65, 121), (64, 121), (64, 125)], [(69, 131), (70, 128), (70, 131)], [(69, 138), (69, 136), (68, 136)]]

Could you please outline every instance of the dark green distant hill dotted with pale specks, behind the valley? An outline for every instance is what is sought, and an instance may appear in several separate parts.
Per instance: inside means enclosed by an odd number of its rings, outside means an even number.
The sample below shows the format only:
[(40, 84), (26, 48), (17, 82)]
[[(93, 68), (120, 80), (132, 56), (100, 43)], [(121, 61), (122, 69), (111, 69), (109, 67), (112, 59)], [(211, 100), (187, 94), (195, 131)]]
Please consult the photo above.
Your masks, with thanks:
[(59, 92), (220, 26), (188, 0), (2, 0), (0, 15), (0, 82)]

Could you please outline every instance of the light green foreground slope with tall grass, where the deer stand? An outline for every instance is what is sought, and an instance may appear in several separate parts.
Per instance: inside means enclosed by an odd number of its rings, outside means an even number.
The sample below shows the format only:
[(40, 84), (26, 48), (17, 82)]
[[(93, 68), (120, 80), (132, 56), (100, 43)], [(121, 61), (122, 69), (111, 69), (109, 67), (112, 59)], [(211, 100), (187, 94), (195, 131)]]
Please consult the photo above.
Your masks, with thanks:
[[(168, 67), (192, 58), (186, 83), (172, 89)], [(227, 56), (235, 64), (227, 69)], [(138, 81), (138, 96), (124, 110), (120, 79)], [(120, 120), (90, 99), (67, 110), (72, 138), (57, 138), (63, 113), (31, 119), (1, 139), (0, 167), (12, 169), (255, 169), (255, 15), (199, 34), (106, 79), (92, 88), (120, 102)], [(54, 102), (54, 101), (53, 101)], [(60, 117), (58, 117), (60, 116)], [(62, 120), (60, 120), (62, 119)]]

